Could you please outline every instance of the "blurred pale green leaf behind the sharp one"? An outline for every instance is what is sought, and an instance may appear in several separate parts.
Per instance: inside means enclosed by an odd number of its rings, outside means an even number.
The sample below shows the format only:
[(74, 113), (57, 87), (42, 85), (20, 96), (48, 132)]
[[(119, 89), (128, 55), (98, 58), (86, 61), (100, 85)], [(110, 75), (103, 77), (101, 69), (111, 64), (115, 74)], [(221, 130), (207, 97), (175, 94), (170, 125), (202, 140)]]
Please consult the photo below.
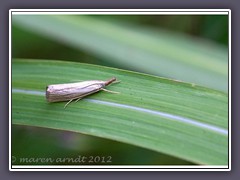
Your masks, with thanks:
[(12, 19), (28, 31), (121, 67), (228, 91), (226, 47), (101, 16), (13, 15)]

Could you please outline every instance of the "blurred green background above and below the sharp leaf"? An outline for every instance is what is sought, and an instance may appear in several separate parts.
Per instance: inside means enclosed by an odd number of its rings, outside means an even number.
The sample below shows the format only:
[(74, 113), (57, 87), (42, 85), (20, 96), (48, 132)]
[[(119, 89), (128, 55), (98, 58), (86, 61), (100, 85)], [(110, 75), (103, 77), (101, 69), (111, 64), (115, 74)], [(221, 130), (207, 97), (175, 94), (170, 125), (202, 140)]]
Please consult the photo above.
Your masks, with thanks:
[[(12, 58), (98, 64), (228, 91), (227, 15), (13, 15), (12, 20)], [(16, 125), (12, 155), (14, 164), (24, 164), (20, 157), (79, 155), (111, 156), (109, 164), (118, 165), (193, 164), (102, 138)]]

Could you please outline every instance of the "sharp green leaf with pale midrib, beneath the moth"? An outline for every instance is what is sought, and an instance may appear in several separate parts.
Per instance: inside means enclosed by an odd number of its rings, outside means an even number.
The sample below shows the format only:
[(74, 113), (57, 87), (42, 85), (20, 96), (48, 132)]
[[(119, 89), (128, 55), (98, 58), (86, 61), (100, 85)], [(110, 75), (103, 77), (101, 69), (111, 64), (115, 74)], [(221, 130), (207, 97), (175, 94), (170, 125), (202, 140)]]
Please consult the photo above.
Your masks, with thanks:
[[(98, 92), (47, 103), (49, 84), (121, 82), (120, 94)], [(12, 123), (68, 130), (137, 145), (199, 164), (228, 164), (226, 93), (141, 73), (73, 62), (14, 59)]]

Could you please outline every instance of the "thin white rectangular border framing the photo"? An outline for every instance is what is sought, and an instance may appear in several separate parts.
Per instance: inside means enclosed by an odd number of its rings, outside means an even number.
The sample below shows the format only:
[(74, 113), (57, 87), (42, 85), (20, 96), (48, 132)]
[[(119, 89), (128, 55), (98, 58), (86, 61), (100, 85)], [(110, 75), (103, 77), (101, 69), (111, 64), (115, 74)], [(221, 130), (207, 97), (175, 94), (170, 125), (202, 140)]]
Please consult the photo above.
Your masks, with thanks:
[[(11, 126), (12, 126), (12, 15), (62, 15), (62, 14), (108, 14), (108, 15), (228, 15), (228, 165), (138, 165), (138, 166), (39, 166), (12, 165)], [(231, 171), (231, 10), (230, 9), (10, 9), (9, 10), (9, 170), (10, 171)]]

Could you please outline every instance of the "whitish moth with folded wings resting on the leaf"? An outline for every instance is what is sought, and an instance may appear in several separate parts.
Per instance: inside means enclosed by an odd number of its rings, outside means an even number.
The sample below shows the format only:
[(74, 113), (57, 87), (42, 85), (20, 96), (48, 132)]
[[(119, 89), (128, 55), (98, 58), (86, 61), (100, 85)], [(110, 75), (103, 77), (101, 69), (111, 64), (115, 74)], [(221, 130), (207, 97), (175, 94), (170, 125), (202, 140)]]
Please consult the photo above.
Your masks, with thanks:
[(112, 83), (117, 83), (116, 78), (107, 81), (91, 80), (77, 83), (53, 84), (46, 88), (46, 99), (48, 102), (68, 101), (64, 108), (73, 100), (76, 102), (83, 97), (104, 90), (111, 93), (118, 93), (104, 89)]

